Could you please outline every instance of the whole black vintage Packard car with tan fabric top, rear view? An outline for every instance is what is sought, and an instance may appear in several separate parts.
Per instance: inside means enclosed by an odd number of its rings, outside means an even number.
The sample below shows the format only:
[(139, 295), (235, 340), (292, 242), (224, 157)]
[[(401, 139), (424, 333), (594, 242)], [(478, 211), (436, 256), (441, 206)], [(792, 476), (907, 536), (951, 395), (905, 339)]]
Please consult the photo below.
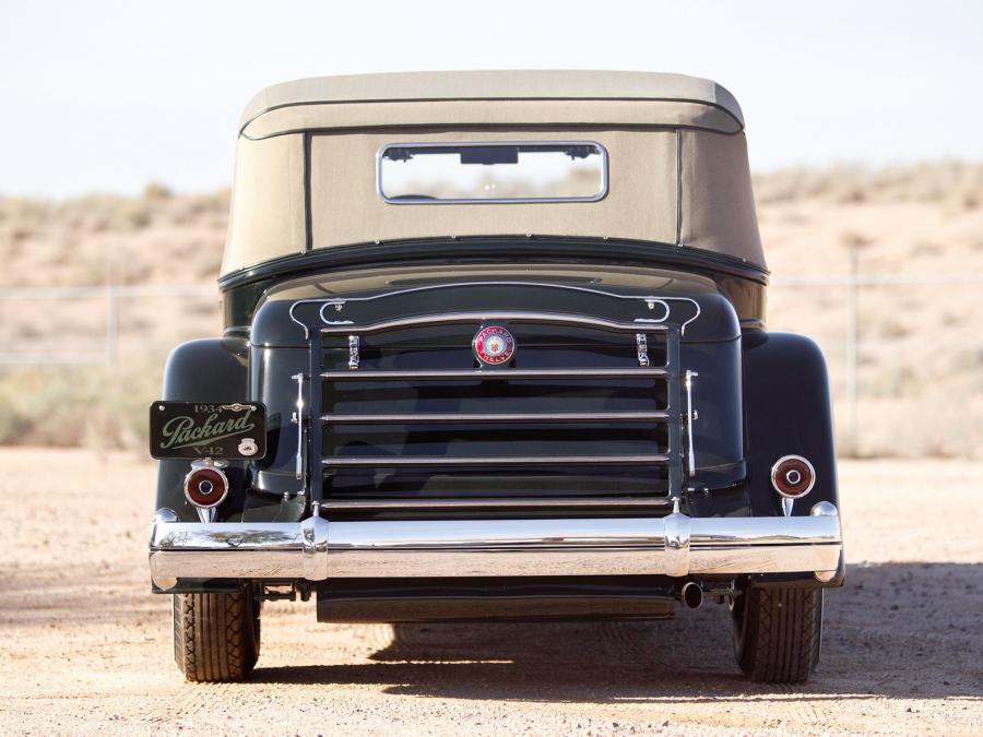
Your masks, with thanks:
[(660, 619), (725, 603), (803, 682), (844, 575), (826, 368), (765, 326), (744, 121), (599, 72), (303, 80), (239, 130), (225, 332), (151, 408), (153, 590), (189, 680), (260, 606)]

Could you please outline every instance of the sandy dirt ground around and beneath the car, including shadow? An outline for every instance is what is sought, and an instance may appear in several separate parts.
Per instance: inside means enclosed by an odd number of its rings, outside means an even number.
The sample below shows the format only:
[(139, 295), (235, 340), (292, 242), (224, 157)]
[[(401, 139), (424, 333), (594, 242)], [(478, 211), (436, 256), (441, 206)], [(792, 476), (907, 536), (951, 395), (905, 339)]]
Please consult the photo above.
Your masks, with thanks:
[(17, 448), (0, 468), (3, 734), (983, 733), (983, 463), (842, 464), (850, 571), (805, 688), (746, 682), (714, 605), (393, 629), (274, 603), (250, 682), (185, 683), (149, 593), (153, 465)]

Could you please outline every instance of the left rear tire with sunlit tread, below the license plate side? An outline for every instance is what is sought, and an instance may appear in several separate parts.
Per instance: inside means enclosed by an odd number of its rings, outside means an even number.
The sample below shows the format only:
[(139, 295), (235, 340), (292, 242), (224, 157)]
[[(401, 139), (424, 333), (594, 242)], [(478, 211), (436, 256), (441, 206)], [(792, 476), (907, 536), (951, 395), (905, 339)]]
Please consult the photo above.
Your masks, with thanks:
[(175, 594), (174, 659), (190, 681), (244, 680), (259, 657), (259, 603), (234, 594)]

